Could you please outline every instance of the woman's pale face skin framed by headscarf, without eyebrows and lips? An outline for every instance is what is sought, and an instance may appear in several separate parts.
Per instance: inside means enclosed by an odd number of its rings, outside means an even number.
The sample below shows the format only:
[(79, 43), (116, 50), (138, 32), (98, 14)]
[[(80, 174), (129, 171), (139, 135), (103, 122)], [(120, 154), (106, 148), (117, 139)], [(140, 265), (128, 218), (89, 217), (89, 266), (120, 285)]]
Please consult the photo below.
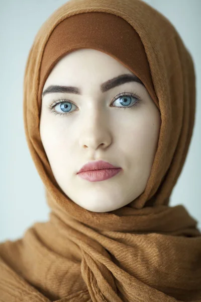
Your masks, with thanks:
[[(92, 212), (121, 208), (142, 194), (157, 150), (160, 112), (146, 88), (127, 82), (103, 90), (104, 82), (125, 73), (134, 75), (104, 52), (79, 49), (57, 62), (43, 88), (73, 86), (80, 91), (43, 96), (40, 135), (60, 188)], [(98, 160), (122, 169), (92, 182), (77, 174), (84, 164)]]

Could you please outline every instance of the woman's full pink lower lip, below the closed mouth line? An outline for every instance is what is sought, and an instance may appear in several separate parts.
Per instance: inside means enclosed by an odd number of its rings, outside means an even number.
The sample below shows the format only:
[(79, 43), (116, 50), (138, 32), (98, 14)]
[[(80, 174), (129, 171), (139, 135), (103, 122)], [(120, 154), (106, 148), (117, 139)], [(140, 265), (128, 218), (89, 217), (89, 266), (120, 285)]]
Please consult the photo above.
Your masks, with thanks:
[(116, 174), (118, 174), (122, 168), (118, 169), (103, 169), (103, 170), (91, 170), (86, 172), (80, 172), (77, 175), (79, 175), (81, 178), (88, 180), (88, 181), (102, 181), (109, 179)]

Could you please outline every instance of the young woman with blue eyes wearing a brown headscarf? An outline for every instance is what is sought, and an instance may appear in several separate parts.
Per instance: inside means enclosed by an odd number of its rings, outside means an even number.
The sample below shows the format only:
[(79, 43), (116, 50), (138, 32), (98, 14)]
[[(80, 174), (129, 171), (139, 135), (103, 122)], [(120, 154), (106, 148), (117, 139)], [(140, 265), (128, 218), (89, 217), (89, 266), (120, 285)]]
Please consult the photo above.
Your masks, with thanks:
[(191, 55), (159, 12), (139, 0), (54, 12), (24, 79), (50, 219), (0, 244), (0, 300), (201, 301), (197, 221), (169, 206), (194, 114)]

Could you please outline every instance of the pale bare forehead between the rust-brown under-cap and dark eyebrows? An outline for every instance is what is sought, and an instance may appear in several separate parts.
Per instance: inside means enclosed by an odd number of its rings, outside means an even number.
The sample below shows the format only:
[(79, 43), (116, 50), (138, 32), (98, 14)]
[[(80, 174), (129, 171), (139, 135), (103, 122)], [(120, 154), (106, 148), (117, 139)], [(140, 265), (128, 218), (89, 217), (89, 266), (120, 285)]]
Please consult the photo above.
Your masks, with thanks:
[[(85, 77), (90, 81), (104, 82), (120, 73), (132, 73), (114, 57), (95, 49), (78, 49), (66, 54), (52, 68), (44, 89), (55, 81), (64, 83), (80, 82)], [(59, 84), (59, 83), (58, 83)]]

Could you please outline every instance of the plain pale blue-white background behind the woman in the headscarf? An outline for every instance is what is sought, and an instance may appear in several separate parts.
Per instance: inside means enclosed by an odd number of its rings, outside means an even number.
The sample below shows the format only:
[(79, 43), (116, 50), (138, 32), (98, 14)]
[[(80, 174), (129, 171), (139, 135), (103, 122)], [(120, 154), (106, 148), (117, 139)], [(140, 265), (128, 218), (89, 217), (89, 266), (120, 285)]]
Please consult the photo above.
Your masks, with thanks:
[[(66, 1), (0, 0), (0, 241), (16, 240), (49, 219), (45, 191), (32, 161), (23, 123), (23, 78), (29, 50), (45, 20)], [(196, 116), (189, 152), (170, 206), (183, 204), (201, 230), (201, 1), (147, 0), (165, 15), (190, 51), (196, 73)]]

